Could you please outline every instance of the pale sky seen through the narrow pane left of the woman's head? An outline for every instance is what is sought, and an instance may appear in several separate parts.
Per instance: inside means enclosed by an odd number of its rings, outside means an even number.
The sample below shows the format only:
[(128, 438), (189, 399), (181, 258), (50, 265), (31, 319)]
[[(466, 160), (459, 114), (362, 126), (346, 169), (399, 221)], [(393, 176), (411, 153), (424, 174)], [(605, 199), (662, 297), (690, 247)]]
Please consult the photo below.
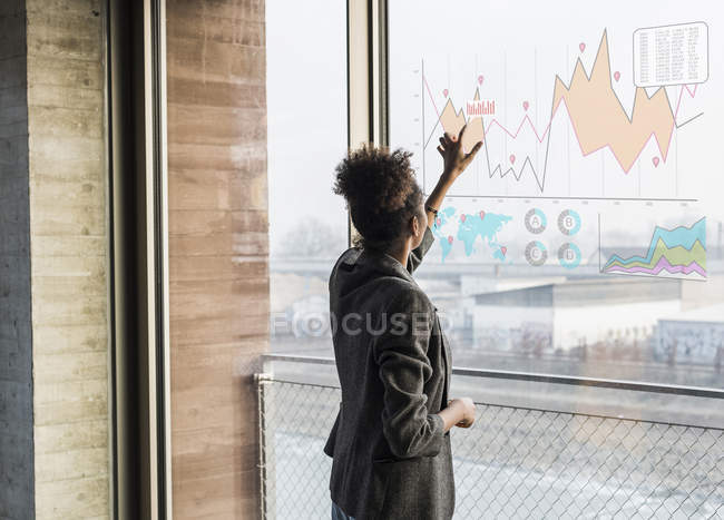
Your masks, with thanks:
[(332, 193), (346, 153), (345, 3), (266, 2), (272, 255), (313, 218), (336, 223), (331, 239), (345, 247), (344, 202)]

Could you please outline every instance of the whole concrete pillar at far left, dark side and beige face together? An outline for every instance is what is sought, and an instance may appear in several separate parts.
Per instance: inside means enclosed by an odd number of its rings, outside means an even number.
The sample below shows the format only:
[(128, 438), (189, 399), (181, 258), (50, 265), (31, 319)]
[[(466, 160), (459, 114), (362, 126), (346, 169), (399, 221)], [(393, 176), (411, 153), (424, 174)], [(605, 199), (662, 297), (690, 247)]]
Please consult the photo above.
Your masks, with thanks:
[(2, 518), (109, 513), (100, 10), (0, 8)]

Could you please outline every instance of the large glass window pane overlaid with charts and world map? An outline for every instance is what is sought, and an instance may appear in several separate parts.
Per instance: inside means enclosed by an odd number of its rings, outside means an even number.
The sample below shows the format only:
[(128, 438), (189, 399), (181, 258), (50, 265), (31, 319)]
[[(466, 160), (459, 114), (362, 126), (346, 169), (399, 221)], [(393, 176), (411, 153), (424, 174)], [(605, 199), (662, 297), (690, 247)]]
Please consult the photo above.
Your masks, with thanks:
[(390, 3), (393, 146), (429, 193), (443, 130), (485, 145), (419, 271), (457, 365), (724, 387), (723, 23), (707, 1)]

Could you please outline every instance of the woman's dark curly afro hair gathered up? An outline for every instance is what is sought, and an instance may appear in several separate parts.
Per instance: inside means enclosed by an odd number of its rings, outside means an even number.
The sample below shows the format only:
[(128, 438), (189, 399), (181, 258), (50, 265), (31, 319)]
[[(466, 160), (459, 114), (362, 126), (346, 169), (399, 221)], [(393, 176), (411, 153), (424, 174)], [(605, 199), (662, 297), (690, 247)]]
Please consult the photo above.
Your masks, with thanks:
[(348, 204), (352, 223), (362, 235), (358, 245), (387, 248), (407, 234), (420, 217), (422, 190), (410, 167), (412, 153), (365, 145), (350, 151), (336, 167), (334, 193)]

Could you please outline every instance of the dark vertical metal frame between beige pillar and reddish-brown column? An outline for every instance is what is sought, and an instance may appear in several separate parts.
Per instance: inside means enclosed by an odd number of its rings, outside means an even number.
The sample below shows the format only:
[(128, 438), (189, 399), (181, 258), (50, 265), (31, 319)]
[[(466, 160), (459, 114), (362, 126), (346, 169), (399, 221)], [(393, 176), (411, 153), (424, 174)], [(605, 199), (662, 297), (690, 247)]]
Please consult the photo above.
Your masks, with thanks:
[(172, 518), (165, 0), (105, 0), (110, 518)]

